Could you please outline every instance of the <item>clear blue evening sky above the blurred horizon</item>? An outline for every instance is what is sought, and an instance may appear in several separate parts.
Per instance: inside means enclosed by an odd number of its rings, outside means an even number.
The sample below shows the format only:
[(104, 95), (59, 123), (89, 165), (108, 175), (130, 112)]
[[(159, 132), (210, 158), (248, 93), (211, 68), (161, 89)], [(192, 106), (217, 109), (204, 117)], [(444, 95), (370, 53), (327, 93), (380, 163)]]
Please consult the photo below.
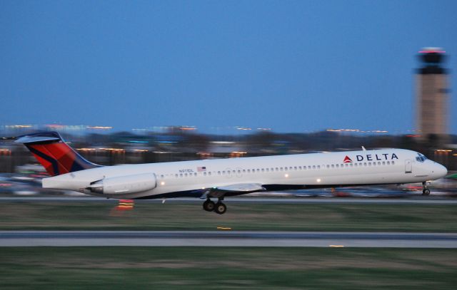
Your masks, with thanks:
[(456, 86), (456, 11), (457, 1), (0, 1), (0, 124), (404, 132), (422, 47), (445, 48)]

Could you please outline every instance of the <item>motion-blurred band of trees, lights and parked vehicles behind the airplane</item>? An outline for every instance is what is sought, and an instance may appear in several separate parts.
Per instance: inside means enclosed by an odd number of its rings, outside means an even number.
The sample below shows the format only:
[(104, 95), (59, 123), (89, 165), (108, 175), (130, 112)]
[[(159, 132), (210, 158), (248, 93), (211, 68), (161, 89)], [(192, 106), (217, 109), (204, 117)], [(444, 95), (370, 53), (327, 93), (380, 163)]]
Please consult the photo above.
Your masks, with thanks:
[[(430, 119), (430, 118), (429, 118)], [(431, 120), (434, 122), (434, 120)], [(426, 123), (426, 122), (425, 122)], [(213, 158), (302, 154), (343, 150), (396, 147), (423, 152), (445, 165), (448, 178), (433, 182), (433, 194), (457, 194), (453, 171), (457, 170), (457, 135), (421, 134), (413, 131), (391, 135), (385, 130), (327, 129), (313, 133), (276, 133), (271, 128), (226, 127), (200, 132), (194, 126), (162, 126), (116, 132), (111, 126), (94, 125), (2, 125), (2, 136), (18, 136), (43, 130), (56, 130), (87, 160), (100, 165), (171, 162)], [(215, 133), (211, 133), (215, 130)], [(224, 132), (224, 133), (222, 133)], [(47, 173), (21, 144), (0, 143), (1, 193), (16, 195), (61, 194), (43, 192), (41, 178)], [(438, 192), (436, 189), (439, 189)], [(303, 190), (299, 196), (389, 197), (420, 195), (421, 185), (351, 188), (338, 191)], [(64, 192), (80, 195), (78, 192)], [(257, 194), (258, 195), (258, 194)], [(264, 195), (271, 195), (266, 193)]]

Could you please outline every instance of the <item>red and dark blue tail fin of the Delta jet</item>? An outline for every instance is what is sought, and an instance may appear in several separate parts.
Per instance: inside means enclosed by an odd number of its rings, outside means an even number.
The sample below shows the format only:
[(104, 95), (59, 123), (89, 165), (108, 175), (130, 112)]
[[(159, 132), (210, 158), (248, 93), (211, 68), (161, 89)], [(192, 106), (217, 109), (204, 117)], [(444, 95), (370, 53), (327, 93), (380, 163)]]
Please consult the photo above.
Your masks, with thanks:
[(22, 135), (15, 142), (26, 145), (51, 176), (100, 167), (81, 157), (57, 132)]

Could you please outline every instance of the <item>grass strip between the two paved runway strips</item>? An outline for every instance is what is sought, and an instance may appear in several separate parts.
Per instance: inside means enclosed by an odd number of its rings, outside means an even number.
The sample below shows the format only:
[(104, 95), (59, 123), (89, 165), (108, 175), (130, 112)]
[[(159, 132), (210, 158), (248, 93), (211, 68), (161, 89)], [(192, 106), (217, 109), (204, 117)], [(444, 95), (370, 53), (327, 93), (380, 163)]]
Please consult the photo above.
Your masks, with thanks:
[(227, 202), (226, 214), (201, 204), (1, 202), (0, 229), (124, 229), (457, 232), (455, 204), (243, 204)]

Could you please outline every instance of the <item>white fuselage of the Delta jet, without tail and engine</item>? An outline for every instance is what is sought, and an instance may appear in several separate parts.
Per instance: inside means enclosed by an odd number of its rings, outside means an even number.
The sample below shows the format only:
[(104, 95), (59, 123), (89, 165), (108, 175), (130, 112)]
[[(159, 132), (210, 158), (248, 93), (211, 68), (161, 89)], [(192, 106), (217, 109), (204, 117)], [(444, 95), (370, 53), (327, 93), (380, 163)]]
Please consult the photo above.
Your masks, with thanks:
[(94, 195), (157, 198), (231, 185), (258, 184), (266, 190), (306, 189), (425, 182), (447, 174), (446, 167), (431, 160), (418, 160), (418, 156), (411, 150), (383, 149), (116, 165), (45, 178), (43, 187), (94, 194), (87, 189), (94, 182), (136, 175), (144, 179), (145, 174), (151, 174), (155, 179), (151, 190)]

